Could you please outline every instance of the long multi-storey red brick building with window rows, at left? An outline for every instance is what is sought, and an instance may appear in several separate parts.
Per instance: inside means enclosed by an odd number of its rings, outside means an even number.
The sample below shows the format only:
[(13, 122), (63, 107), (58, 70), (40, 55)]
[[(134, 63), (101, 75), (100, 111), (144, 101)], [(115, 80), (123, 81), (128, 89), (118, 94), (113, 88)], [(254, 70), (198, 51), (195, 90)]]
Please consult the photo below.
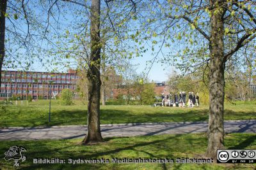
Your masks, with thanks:
[(50, 92), (60, 94), (62, 89), (75, 90), (78, 79), (74, 70), (69, 70), (68, 73), (2, 71), (0, 99), (13, 96), (20, 99), (26, 99), (28, 96), (33, 99), (49, 99)]

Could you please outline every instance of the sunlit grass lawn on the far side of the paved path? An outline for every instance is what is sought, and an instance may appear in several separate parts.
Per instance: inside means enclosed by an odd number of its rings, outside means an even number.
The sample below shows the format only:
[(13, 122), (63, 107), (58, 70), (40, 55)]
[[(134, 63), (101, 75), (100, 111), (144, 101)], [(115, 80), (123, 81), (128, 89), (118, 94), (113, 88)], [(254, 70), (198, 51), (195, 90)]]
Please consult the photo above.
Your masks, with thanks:
[[(36, 101), (24, 106), (0, 105), (0, 127), (35, 127), (40, 125), (84, 125), (87, 106), (77, 102), (61, 106), (52, 100), (51, 123), (48, 123), (49, 101)], [(100, 106), (101, 124), (133, 122), (195, 122), (208, 121), (209, 106), (175, 108), (152, 106)], [(256, 104), (226, 104), (225, 120), (256, 119)]]

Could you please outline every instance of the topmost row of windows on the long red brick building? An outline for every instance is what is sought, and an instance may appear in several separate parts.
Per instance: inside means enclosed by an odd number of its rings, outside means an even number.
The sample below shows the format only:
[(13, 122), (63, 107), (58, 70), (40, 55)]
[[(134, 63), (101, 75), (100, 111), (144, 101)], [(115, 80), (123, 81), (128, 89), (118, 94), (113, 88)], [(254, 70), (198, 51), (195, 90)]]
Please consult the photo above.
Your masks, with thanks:
[(33, 78), (66, 78), (66, 79), (78, 79), (79, 76), (65, 76), (65, 75), (55, 75), (55, 74), (2, 74), (2, 76), (6, 77), (33, 77)]

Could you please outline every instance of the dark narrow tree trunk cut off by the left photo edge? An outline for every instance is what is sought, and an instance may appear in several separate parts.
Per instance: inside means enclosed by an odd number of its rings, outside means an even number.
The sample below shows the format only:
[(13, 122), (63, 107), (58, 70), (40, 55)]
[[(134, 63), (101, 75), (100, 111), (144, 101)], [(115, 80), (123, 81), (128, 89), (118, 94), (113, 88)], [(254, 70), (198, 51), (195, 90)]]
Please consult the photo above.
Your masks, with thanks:
[(2, 67), (5, 55), (4, 39), (5, 39), (5, 13), (6, 13), (7, 0), (1, 0), (0, 3), (0, 85), (2, 78)]

